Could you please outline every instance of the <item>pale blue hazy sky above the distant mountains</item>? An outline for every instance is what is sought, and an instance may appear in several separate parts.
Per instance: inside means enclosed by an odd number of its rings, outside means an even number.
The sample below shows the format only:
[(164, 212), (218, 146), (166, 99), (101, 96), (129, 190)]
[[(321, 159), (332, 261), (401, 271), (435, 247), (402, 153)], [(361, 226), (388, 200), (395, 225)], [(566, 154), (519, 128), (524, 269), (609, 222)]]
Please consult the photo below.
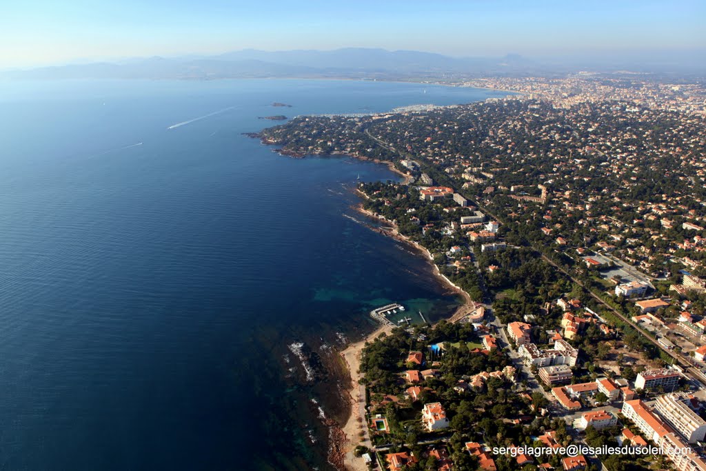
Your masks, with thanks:
[(705, 49), (703, 0), (0, 0), (0, 68), (246, 48)]

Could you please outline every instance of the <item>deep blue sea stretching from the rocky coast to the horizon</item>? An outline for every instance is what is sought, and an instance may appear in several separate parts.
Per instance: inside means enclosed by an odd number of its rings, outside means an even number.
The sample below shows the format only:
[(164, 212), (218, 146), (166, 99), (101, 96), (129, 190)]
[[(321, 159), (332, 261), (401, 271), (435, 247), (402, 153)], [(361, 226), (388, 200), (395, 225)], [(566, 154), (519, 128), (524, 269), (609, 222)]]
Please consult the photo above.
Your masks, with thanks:
[[(459, 299), (352, 208), (347, 157), (282, 157), (272, 114), (501, 96), (358, 81), (0, 84), (0, 469), (332, 469), (335, 349)], [(273, 102), (292, 105), (272, 107)], [(321, 359), (307, 378), (296, 352)], [(339, 400), (340, 402), (340, 400)], [(321, 410), (319, 409), (321, 407)]]

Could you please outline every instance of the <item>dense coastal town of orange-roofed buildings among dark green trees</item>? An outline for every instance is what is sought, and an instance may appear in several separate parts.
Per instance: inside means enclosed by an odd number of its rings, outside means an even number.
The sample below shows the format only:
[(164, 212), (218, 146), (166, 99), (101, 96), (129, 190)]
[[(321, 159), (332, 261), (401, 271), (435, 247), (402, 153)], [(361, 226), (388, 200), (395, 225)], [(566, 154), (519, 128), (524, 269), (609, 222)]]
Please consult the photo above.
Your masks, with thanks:
[[(517, 94), (258, 135), (405, 174), (359, 184), (361, 210), (472, 299), (366, 345), (356, 455), (390, 471), (706, 470), (705, 88), (600, 74), (463, 85)], [(527, 453), (570, 444), (635, 454)]]

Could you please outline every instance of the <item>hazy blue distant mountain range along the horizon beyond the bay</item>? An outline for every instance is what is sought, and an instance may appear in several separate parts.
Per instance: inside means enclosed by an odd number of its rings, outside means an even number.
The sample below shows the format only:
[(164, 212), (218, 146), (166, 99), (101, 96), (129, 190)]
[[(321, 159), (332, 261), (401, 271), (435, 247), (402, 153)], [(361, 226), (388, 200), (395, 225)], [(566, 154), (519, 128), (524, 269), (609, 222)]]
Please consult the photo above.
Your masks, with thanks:
[[(616, 70), (649, 71), (643, 61), (602, 61)], [(601, 61), (594, 61), (599, 64)], [(698, 63), (699, 61), (697, 61)], [(588, 63), (590, 64), (590, 63)], [(588, 65), (587, 64), (587, 65)], [(662, 64), (664, 66), (664, 64)], [(216, 56), (150, 57), (2, 71), (0, 78), (454, 78), (475, 75), (529, 75), (578, 70), (578, 64), (539, 62), (517, 54), (504, 57), (456, 58), (417, 51), (346, 48), (333, 51), (266, 52), (245, 49)]]

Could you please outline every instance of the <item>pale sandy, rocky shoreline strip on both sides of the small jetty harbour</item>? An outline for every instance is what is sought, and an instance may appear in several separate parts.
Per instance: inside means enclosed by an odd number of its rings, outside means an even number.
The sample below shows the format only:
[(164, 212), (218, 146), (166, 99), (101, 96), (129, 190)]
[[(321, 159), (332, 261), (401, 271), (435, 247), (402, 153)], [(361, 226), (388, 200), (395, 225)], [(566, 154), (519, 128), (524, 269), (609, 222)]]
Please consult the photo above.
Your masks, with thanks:
[[(368, 196), (359, 189), (356, 189), (355, 191), (357, 192), (357, 194), (359, 194), (359, 196), (361, 196), (361, 198), (368, 198)], [(431, 253), (428, 249), (426, 249), (426, 247), (421, 246), (417, 242), (414, 242), (412, 239), (409, 239), (405, 235), (400, 234), (399, 230), (397, 230), (397, 225), (395, 225), (392, 221), (385, 219), (384, 217), (375, 215), (371, 213), (371, 211), (366, 210), (365, 208), (363, 208), (362, 203), (357, 205), (355, 209), (359, 213), (366, 215), (367, 217), (371, 217), (376, 220), (381, 220), (385, 222), (385, 224), (389, 225), (389, 228), (378, 228), (371, 226), (369, 226), (369, 228), (387, 237), (391, 237), (397, 240), (398, 242), (405, 243), (416, 251), (418, 251), (420, 254), (426, 256), (426, 258), (429, 260), (429, 263), (431, 263), (431, 265), (433, 266), (433, 276), (439, 281), (441, 281), (443, 285), (446, 285), (450, 290), (453, 290), (463, 298), (463, 304), (458, 306), (457, 309), (453, 312), (453, 314), (449, 316), (449, 319), (451, 321), (453, 321), (454, 319), (457, 320), (458, 318), (465, 316), (465, 314), (475, 308), (475, 303), (473, 299), (471, 299), (470, 295), (464, 290), (462, 290), (461, 287), (451, 282), (451, 280), (446, 278), (445, 275), (443, 275), (443, 273), (439, 271), (438, 266), (436, 266), (436, 263), (433, 263), (433, 257), (431, 256)], [(359, 383), (362, 378), (362, 375), (359, 371), (361, 352), (367, 342), (372, 342), (373, 340), (378, 338), (378, 336), (381, 335), (381, 333), (383, 332), (389, 334), (392, 330), (393, 326), (379, 326), (372, 333), (366, 335), (364, 339), (360, 340), (359, 342), (354, 342), (348, 345), (345, 350), (342, 350), (342, 352), (340, 352), (341, 358), (347, 365), (350, 379), (349, 388), (347, 390), (351, 405), (350, 414), (345, 425), (340, 428), (340, 431), (343, 432), (343, 436), (345, 437), (345, 441), (340, 444), (340, 453), (344, 455), (343, 469), (347, 471), (367, 470), (368, 468), (364, 464), (363, 460), (361, 458), (356, 458), (353, 455), (353, 451), (354, 448), (356, 448), (359, 444), (371, 448), (371, 443), (369, 441), (368, 436), (368, 425), (365, 422), (365, 387)]]

